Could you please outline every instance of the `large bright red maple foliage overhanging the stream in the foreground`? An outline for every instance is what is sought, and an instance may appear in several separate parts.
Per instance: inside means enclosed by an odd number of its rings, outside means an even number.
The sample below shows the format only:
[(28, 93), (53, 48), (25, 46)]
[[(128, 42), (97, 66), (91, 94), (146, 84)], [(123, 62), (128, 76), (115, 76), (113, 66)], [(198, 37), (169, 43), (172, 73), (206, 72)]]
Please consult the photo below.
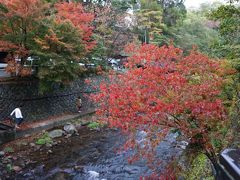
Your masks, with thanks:
[(184, 56), (173, 46), (129, 45), (126, 51), (127, 71), (111, 74), (93, 96), (101, 119), (130, 132), (126, 147), (139, 146), (137, 130), (147, 132), (150, 143), (140, 154), (151, 160), (152, 148), (173, 129), (212, 155), (211, 136), (227, 123), (220, 62), (196, 51)]

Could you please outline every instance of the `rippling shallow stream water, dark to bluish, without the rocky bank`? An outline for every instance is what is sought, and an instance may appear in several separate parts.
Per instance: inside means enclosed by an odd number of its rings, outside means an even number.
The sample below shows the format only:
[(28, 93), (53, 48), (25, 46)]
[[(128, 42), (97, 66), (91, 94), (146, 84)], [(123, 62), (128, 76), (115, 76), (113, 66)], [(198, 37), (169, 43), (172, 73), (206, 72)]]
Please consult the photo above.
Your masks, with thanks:
[[(33, 159), (39, 156), (42, 162), (27, 167), (16, 179), (134, 180), (152, 174), (144, 160), (128, 163), (133, 151), (118, 152), (126, 141), (126, 136), (120, 131), (90, 131), (83, 128), (79, 134), (54, 146), (51, 154), (32, 154)], [(144, 132), (139, 133), (139, 142), (144, 140), (144, 136)], [(181, 151), (182, 148), (176, 145), (175, 135), (168, 135), (157, 148), (157, 154), (163, 160), (158, 169), (164, 169), (166, 163)]]

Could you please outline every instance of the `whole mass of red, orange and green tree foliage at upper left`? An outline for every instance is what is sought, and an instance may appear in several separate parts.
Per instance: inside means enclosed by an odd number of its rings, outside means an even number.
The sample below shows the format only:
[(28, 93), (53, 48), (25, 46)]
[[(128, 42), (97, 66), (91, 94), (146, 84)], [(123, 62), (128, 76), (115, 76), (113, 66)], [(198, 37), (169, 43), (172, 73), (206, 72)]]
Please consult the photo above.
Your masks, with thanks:
[(24, 65), (28, 57), (35, 57), (40, 79), (68, 82), (78, 73), (73, 65), (95, 46), (94, 15), (80, 3), (0, 0), (0, 16), (0, 51), (8, 53), (10, 73), (29, 75)]

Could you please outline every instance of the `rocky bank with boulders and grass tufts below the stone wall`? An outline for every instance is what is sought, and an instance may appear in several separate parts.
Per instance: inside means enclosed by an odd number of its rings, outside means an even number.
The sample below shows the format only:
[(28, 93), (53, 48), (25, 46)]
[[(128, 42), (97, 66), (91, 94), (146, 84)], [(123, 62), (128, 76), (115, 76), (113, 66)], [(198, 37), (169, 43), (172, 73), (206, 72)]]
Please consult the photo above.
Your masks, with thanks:
[[(71, 121), (75, 123), (78, 133), (65, 133), (53, 138), (51, 142), (37, 143), (44, 134), (54, 129), (63, 129), (63, 126), (54, 127), (48, 131), (43, 130), (40, 133), (35, 132), (35, 134), (32, 132), (32, 135), (25, 134), (25, 137), (2, 145), (0, 148), (0, 177), (13, 179), (23, 175), (24, 178), (25, 171), (37, 167), (39, 164), (44, 164), (46, 170), (51, 169), (54, 162), (57, 163), (64, 153), (71, 153), (68, 151), (72, 151), (73, 144), (81, 146), (83, 140), (87, 141), (86, 134), (90, 136), (95, 131), (90, 130), (86, 125), (95, 120), (94, 116), (72, 119)], [(96, 133), (98, 132), (96, 131)]]

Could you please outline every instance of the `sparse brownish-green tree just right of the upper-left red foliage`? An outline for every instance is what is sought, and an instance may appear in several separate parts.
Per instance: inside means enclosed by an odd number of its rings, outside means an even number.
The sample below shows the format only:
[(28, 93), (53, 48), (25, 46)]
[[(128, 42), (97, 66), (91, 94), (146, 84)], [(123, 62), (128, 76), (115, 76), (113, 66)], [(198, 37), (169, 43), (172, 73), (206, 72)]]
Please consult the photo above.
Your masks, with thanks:
[(104, 65), (109, 57), (121, 54), (124, 46), (133, 40), (133, 33), (126, 20), (131, 1), (93, 1), (88, 2), (85, 7), (89, 12), (95, 14), (94, 39), (97, 46), (89, 59), (94, 63)]

